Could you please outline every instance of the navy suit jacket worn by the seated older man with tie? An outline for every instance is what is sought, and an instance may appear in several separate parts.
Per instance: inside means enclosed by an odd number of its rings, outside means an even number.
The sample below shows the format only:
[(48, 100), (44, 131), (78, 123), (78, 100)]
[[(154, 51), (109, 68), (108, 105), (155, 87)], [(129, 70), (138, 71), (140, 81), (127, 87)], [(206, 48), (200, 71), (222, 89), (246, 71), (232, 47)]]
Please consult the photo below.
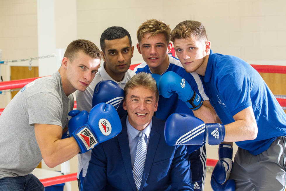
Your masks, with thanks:
[[(134, 190), (126, 116), (116, 137), (92, 149), (84, 179), (84, 190)], [(164, 125), (153, 116), (141, 190), (193, 190), (186, 146), (170, 147), (164, 139)]]

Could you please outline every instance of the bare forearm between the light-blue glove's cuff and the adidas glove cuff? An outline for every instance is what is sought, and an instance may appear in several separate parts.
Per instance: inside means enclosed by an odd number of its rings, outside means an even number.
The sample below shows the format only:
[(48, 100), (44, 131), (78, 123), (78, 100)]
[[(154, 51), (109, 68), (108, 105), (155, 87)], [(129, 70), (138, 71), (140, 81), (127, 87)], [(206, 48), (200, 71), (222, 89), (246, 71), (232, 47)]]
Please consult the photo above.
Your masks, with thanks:
[(205, 100), (200, 109), (193, 111), (197, 118), (200, 118), (204, 123), (220, 123), (221, 120), (217, 116), (214, 108), (209, 100)]

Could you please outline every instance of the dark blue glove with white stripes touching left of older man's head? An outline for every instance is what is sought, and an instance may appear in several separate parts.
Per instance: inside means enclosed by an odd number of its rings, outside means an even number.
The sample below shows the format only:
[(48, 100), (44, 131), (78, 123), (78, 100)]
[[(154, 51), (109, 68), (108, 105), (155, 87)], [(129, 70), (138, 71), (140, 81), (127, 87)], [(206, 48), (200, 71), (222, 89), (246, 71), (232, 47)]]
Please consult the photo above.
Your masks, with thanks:
[(119, 118), (127, 114), (123, 109), (124, 90), (112, 80), (103, 80), (98, 82), (94, 88), (92, 97), (92, 107), (99, 103), (111, 104), (115, 107)]

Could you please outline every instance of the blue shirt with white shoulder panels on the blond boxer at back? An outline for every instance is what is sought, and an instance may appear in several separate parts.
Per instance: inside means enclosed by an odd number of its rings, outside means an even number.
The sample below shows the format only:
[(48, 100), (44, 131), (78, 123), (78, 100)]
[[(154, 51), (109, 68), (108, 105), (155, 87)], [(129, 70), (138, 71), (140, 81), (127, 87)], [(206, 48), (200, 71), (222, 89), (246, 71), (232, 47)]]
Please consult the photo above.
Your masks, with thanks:
[[(151, 73), (149, 66), (146, 62), (143, 62), (140, 65), (136, 66), (136, 68), (134, 68), (134, 71), (135, 73)], [(209, 99), (204, 92), (204, 87), (200, 76), (197, 73), (186, 72), (181, 62), (177, 58), (170, 55), (169, 67), (161, 75), (169, 71), (173, 71), (180, 75), (182, 78), (184, 78), (190, 84), (192, 89), (202, 97), (203, 100)], [(187, 113), (189, 115), (194, 116), (193, 111), (187, 106), (185, 102), (183, 102), (181, 99), (178, 99), (178, 94), (176, 94), (175, 92), (169, 98), (164, 98), (162, 95), (160, 95), (158, 109), (155, 112), (155, 116), (159, 119), (166, 120), (172, 113)], [(190, 145), (188, 146), (188, 153), (191, 153), (200, 147), (201, 145)]]

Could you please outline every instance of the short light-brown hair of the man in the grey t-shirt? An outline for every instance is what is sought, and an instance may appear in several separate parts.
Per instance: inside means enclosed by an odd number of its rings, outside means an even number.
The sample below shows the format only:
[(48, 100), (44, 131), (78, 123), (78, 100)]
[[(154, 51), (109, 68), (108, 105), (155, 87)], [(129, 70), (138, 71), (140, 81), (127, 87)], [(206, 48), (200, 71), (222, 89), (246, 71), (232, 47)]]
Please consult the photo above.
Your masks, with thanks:
[(79, 51), (83, 51), (93, 59), (102, 57), (98, 47), (93, 42), (84, 39), (72, 41), (67, 46), (64, 57), (67, 57), (72, 62)]

